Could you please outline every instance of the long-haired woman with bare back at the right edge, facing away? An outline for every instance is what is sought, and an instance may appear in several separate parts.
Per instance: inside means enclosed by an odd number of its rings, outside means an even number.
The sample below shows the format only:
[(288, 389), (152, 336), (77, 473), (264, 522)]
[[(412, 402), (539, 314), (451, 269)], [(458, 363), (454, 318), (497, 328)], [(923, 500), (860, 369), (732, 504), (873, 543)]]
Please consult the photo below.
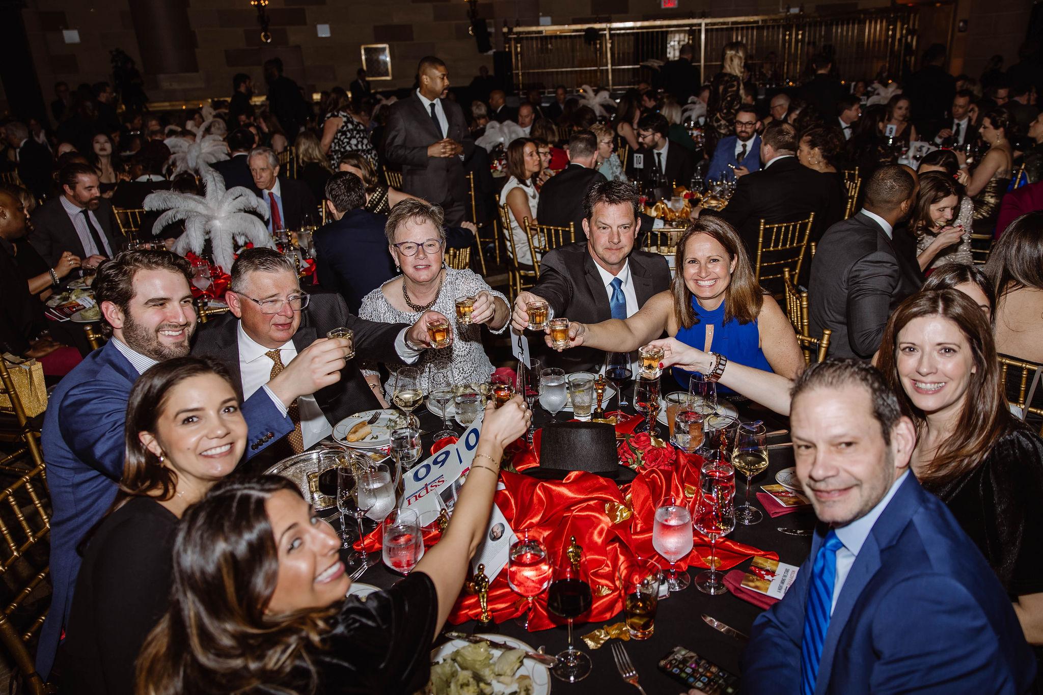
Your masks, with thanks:
[(1043, 210), (1022, 215), (993, 242), (985, 274), (996, 293), (996, 349), (1043, 363)]

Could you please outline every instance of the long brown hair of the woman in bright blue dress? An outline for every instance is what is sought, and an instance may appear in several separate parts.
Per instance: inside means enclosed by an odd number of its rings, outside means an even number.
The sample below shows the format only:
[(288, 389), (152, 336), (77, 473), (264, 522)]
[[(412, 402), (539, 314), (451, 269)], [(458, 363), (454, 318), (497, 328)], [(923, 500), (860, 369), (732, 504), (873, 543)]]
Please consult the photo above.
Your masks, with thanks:
[(677, 254), (674, 257), (676, 273), (671, 280), (671, 292), (674, 294), (674, 316), (678, 325), (690, 328), (699, 323), (699, 316), (692, 308), (692, 298), (695, 295), (684, 283), (684, 253), (688, 240), (696, 234), (715, 239), (728, 253), (728, 263), (735, 260), (735, 270), (731, 272), (731, 281), (724, 293), (724, 322), (738, 319), (739, 323), (749, 323), (755, 320), (765, 303), (765, 291), (753, 274), (743, 240), (734, 227), (724, 220), (706, 216), (693, 222), (677, 242)]

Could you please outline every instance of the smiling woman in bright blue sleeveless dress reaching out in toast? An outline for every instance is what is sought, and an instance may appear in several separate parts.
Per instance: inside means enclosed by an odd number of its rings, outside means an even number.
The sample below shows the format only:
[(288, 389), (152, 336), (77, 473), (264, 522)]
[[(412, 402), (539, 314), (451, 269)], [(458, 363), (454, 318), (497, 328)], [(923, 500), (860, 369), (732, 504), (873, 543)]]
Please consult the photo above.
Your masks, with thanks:
[[(671, 290), (652, 297), (626, 320), (572, 324), (569, 347), (632, 352), (665, 331), (695, 348), (685, 369), (674, 377), (687, 388), (693, 372), (709, 374), (724, 358), (719, 391), (734, 392), (787, 414), (789, 398), (759, 397), (766, 373), (789, 380), (804, 369), (804, 356), (793, 324), (778, 302), (757, 283), (749, 256), (735, 230), (724, 220), (699, 219), (677, 244), (677, 275)], [(680, 347), (680, 345), (679, 345)], [(781, 383), (782, 381), (780, 381)], [(783, 390), (784, 391), (784, 390)]]

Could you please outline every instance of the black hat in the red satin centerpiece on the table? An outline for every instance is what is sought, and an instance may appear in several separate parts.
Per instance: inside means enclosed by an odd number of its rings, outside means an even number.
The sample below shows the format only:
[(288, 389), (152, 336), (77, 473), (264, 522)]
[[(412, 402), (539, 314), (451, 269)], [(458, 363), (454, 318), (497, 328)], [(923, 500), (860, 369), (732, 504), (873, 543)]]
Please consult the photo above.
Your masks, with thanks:
[(527, 475), (563, 480), (573, 471), (586, 471), (616, 482), (630, 482), (637, 475), (620, 465), (615, 428), (606, 422), (552, 422), (543, 426), (539, 466)]

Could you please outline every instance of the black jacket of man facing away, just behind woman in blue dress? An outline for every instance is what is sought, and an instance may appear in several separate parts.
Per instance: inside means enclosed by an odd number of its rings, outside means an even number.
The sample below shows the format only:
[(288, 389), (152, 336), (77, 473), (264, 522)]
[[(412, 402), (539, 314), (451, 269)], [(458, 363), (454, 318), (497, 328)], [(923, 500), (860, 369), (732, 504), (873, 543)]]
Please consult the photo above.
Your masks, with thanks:
[(723, 210), (703, 214), (715, 215), (733, 226), (752, 259), (757, 252), (760, 220), (795, 222), (806, 219), (808, 213), (819, 217), (835, 207), (836, 201), (830, 195), (835, 193), (835, 187), (826, 176), (803, 166), (797, 157), (776, 159), (768, 169), (741, 176)]

